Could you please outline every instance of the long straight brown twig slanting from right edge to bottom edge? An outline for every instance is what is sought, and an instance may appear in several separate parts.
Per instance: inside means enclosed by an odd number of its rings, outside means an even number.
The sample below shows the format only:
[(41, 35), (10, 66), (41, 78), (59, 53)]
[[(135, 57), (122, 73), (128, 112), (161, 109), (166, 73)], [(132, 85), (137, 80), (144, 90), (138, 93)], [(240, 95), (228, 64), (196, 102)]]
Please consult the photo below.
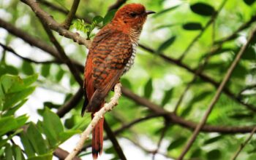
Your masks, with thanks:
[(230, 65), (230, 68), (228, 68), (227, 73), (226, 73), (224, 79), (222, 80), (222, 83), (219, 85), (219, 87), (217, 89), (217, 92), (214, 95), (214, 98), (211, 100), (210, 105), (208, 105), (208, 109), (207, 109), (205, 115), (203, 116), (203, 119), (200, 121), (200, 124), (197, 125), (195, 131), (193, 132), (192, 137), (189, 139), (189, 141), (187, 142), (187, 145), (184, 147), (184, 150), (181, 152), (181, 155), (178, 157), (178, 160), (181, 160), (181, 159), (184, 158), (186, 153), (189, 151), (189, 148), (191, 148), (192, 144), (195, 142), (195, 139), (196, 139), (197, 135), (199, 134), (200, 129), (202, 129), (203, 125), (206, 124), (208, 116), (210, 115), (212, 109), (214, 108), (215, 103), (217, 103), (217, 100), (219, 100), (219, 97), (220, 97), (220, 95), (222, 93), (222, 90), (225, 87), (225, 84), (230, 79), (231, 73), (233, 72), (234, 68), (236, 67), (236, 65), (238, 64), (239, 60), (241, 59), (241, 55), (243, 55), (244, 51), (249, 46), (249, 43), (250, 43), (250, 41), (252, 41), (252, 38), (254, 36), (256, 36), (255, 33), (256, 33), (256, 28), (249, 35), (249, 38), (248, 38), (246, 44), (244, 44), (244, 46), (241, 47), (240, 51), (236, 55), (235, 60)]

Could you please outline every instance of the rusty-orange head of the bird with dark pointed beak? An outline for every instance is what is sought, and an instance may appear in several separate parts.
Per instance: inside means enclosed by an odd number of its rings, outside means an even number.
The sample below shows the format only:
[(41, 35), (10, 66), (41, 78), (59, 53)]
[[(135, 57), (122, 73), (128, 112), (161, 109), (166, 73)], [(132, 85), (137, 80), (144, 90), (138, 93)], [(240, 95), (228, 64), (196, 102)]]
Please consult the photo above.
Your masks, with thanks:
[(116, 12), (113, 22), (121, 23), (128, 29), (141, 30), (149, 14), (155, 13), (146, 10), (142, 4), (127, 4)]

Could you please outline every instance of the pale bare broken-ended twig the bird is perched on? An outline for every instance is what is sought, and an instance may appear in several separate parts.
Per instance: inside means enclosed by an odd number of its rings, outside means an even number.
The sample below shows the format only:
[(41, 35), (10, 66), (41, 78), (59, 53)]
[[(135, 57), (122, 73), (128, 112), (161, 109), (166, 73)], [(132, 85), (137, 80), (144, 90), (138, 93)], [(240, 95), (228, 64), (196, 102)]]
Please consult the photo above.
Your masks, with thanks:
[(121, 97), (120, 83), (115, 85), (114, 91), (115, 93), (111, 98), (110, 103), (105, 103), (104, 107), (102, 107), (97, 113), (94, 114), (94, 118), (91, 120), (91, 123), (88, 125), (86, 130), (84, 130), (83, 133), (81, 134), (81, 137), (77, 146), (72, 150), (71, 153), (69, 153), (69, 156), (67, 156), (65, 160), (72, 160), (72, 158), (75, 157), (78, 151), (80, 151), (83, 148), (83, 143), (89, 138), (89, 134), (94, 129), (99, 119), (102, 119), (102, 117), (107, 111), (111, 111), (118, 104), (118, 99), (119, 97)]

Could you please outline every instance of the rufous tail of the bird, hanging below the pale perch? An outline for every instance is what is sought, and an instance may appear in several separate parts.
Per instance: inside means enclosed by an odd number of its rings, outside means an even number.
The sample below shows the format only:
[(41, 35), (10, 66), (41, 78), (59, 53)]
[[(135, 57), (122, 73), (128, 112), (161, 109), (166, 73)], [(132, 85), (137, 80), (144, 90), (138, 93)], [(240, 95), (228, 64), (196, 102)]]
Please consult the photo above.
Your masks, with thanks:
[[(104, 105), (104, 103), (101, 104), (100, 108), (102, 108), (103, 105)], [(91, 119), (93, 119), (93, 118), (94, 118), (94, 113), (91, 113)], [(92, 156), (94, 159), (97, 159), (98, 155), (100, 155), (102, 153), (103, 123), (104, 123), (104, 117), (102, 117), (102, 119), (99, 119), (94, 130), (92, 131)]]

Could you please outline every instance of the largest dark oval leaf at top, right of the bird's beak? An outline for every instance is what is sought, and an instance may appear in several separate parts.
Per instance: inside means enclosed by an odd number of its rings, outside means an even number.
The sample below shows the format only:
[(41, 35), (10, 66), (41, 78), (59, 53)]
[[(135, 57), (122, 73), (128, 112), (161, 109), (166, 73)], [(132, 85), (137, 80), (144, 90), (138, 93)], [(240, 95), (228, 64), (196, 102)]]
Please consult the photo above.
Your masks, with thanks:
[(203, 15), (203, 16), (211, 16), (214, 15), (214, 7), (211, 7), (209, 4), (205, 4), (205, 3), (196, 3), (196, 4), (192, 4), (190, 6), (190, 9), (192, 10), (192, 12), (198, 14), (198, 15)]

